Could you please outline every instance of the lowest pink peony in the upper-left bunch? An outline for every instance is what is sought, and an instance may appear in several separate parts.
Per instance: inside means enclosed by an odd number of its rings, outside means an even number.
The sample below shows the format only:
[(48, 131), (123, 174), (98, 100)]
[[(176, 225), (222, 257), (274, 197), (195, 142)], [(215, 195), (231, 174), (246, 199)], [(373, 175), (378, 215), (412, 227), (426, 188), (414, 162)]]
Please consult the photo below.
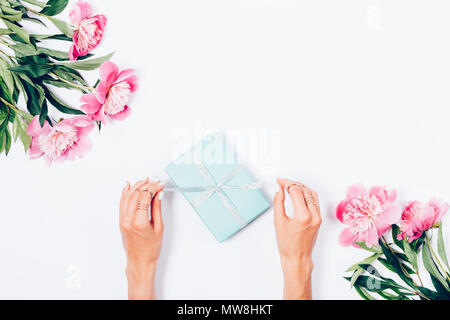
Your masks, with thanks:
[(94, 127), (87, 116), (62, 120), (53, 127), (45, 122), (41, 127), (39, 116), (36, 116), (28, 127), (28, 135), (32, 138), (30, 158), (44, 157), (49, 165), (82, 158), (91, 148), (87, 135)]

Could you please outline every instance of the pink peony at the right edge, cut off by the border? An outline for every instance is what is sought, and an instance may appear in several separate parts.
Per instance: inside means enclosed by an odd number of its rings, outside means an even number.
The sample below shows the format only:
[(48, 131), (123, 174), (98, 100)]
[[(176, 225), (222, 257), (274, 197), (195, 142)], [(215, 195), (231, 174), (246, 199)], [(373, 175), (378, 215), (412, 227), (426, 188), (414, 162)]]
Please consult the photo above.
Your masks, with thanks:
[(398, 240), (408, 237), (409, 242), (420, 238), (422, 233), (439, 223), (447, 213), (449, 205), (440, 199), (433, 198), (427, 204), (412, 201), (402, 213), (399, 227), (402, 233)]

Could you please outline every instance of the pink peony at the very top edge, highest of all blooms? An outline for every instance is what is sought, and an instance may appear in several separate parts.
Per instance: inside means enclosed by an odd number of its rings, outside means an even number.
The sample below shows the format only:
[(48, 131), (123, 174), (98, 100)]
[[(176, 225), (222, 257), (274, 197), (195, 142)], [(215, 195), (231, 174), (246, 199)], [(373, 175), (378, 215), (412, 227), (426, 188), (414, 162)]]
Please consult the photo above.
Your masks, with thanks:
[(103, 38), (106, 17), (92, 16), (92, 7), (85, 1), (78, 1), (69, 14), (71, 23), (76, 27), (73, 33), (73, 44), (69, 51), (72, 61), (84, 57), (94, 50)]

